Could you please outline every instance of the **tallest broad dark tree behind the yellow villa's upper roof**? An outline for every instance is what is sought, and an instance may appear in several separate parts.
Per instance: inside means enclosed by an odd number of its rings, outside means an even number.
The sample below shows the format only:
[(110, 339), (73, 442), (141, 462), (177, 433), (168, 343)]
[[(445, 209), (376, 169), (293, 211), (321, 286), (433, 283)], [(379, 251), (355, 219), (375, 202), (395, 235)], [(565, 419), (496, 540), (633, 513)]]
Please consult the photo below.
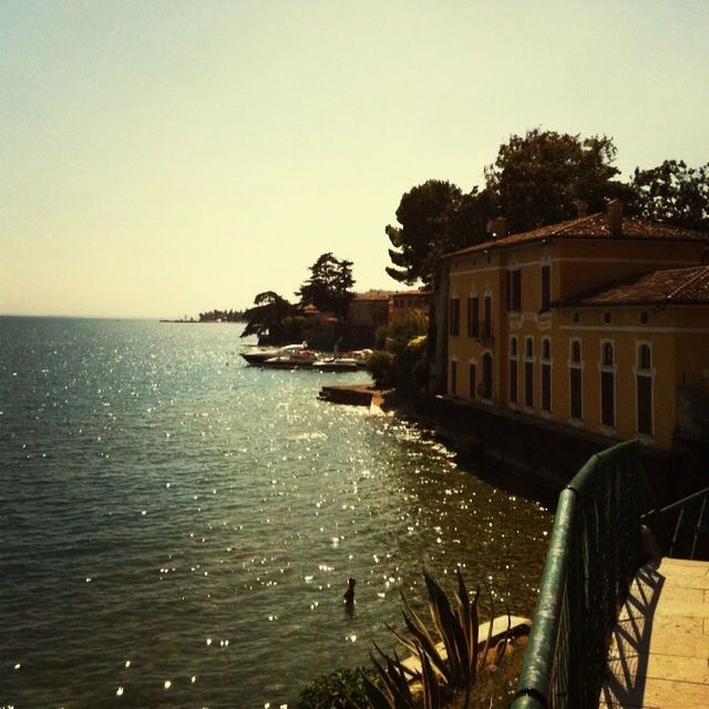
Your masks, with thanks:
[[(513, 135), (500, 146), (485, 169), (486, 199), (506, 217), (510, 233), (525, 232), (604, 209), (610, 198), (628, 198), (628, 186), (613, 181), (619, 174), (613, 138), (541, 131)], [(490, 216), (493, 216), (491, 213)]]

